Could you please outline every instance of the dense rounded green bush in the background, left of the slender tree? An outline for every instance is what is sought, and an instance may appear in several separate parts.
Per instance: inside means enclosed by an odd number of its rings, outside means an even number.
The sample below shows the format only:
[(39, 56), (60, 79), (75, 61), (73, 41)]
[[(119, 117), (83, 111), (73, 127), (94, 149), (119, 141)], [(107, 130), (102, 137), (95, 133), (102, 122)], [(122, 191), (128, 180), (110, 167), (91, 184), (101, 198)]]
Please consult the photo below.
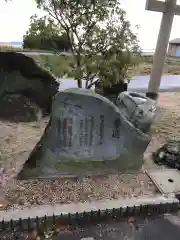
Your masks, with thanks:
[(47, 16), (33, 15), (30, 28), (23, 37), (23, 48), (68, 51), (70, 44), (66, 33), (54, 21)]

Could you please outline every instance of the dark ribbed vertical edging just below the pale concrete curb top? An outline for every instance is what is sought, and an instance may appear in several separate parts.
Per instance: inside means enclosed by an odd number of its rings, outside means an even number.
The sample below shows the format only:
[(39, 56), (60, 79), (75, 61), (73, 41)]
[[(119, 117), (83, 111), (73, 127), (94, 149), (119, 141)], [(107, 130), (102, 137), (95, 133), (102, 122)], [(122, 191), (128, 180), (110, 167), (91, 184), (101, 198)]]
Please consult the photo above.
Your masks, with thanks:
[(90, 212), (82, 212), (75, 214), (61, 214), (52, 216), (43, 216), (36, 218), (27, 218), (10, 221), (0, 222), (0, 235), (3, 231), (30, 231), (32, 228), (39, 229), (41, 231), (46, 231), (47, 229), (52, 229), (56, 225), (63, 226), (77, 226), (84, 224), (96, 224), (102, 223), (107, 220), (122, 220), (124, 218), (129, 218), (132, 216), (149, 216), (149, 215), (161, 215), (164, 213), (174, 213), (179, 209), (179, 204), (174, 203), (163, 203), (163, 204), (149, 204), (149, 205), (139, 205), (133, 207), (120, 207), (106, 210), (97, 210)]

